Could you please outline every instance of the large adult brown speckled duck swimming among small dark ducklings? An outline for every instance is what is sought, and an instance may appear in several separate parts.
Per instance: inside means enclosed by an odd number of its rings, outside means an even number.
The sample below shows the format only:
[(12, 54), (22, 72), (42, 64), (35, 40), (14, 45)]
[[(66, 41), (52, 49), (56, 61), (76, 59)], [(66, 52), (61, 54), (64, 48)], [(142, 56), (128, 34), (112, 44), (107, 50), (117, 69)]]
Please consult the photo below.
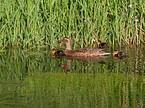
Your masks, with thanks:
[(71, 41), (69, 38), (64, 38), (61, 42), (66, 44), (66, 49), (64, 51), (66, 56), (102, 56), (102, 55), (108, 55), (111, 53), (106, 53), (100, 48), (82, 48), (82, 49), (77, 49), (77, 50), (72, 50), (71, 49)]

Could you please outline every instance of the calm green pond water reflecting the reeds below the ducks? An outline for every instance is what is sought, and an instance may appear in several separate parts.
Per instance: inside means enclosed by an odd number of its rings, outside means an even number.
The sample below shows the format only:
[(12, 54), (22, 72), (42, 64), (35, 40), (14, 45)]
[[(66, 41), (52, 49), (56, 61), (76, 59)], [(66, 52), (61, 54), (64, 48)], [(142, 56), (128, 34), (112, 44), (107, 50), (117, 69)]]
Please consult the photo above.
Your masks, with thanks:
[(145, 48), (123, 59), (55, 58), (50, 50), (0, 53), (0, 108), (144, 108)]

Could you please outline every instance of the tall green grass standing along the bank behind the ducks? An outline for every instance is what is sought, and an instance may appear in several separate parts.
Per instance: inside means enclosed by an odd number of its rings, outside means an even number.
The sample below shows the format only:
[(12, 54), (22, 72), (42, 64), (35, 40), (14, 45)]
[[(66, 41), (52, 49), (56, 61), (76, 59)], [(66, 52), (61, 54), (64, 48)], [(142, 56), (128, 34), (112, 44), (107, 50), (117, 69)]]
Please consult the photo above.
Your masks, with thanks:
[(143, 0), (1, 0), (0, 46), (54, 47), (63, 37), (73, 47), (140, 44), (145, 35)]

